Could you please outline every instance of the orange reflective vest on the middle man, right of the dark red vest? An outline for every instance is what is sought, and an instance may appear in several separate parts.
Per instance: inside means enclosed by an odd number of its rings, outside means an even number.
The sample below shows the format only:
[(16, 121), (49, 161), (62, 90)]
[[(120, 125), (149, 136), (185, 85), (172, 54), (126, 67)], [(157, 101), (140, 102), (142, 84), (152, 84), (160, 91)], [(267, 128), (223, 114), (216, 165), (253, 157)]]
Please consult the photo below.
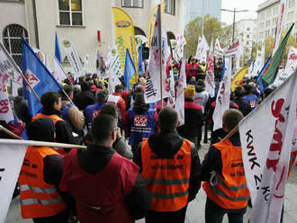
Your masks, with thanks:
[(173, 159), (158, 157), (144, 138), (141, 147), (142, 178), (151, 193), (150, 210), (175, 211), (188, 201), (191, 142), (184, 143)]

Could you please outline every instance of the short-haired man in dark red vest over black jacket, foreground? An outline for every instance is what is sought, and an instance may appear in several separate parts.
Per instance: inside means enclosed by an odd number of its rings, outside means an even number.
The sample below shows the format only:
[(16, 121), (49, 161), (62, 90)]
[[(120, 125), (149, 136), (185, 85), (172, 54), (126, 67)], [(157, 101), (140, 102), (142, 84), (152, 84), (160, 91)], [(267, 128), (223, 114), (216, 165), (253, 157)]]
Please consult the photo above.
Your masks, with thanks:
[(116, 120), (100, 114), (92, 123), (92, 145), (64, 158), (59, 189), (74, 196), (81, 223), (132, 223), (148, 212), (150, 196), (139, 166), (112, 148), (116, 131)]

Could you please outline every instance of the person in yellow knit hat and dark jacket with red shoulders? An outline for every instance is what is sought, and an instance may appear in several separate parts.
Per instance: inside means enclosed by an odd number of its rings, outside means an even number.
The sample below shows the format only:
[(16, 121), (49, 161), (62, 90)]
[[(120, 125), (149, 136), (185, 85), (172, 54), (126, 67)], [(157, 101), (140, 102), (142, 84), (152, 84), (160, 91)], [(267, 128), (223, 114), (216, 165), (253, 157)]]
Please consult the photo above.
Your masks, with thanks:
[[(184, 89), (184, 125), (177, 127), (181, 137), (192, 141), (200, 147), (202, 135), (202, 106), (194, 103), (195, 87), (187, 85)], [(199, 136), (199, 137), (198, 137)]]

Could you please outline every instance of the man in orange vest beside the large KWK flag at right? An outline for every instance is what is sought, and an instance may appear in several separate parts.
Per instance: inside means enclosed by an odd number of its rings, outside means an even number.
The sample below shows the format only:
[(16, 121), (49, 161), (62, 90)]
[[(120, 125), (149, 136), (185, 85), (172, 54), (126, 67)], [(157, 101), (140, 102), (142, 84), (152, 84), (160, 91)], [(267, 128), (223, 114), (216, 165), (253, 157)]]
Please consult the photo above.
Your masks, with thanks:
[[(237, 109), (224, 112), (222, 126), (226, 133), (234, 129), (243, 114)], [(202, 162), (202, 187), (207, 195), (205, 222), (243, 222), (247, 211), (249, 191), (241, 155), (238, 131), (228, 139), (213, 144)]]

